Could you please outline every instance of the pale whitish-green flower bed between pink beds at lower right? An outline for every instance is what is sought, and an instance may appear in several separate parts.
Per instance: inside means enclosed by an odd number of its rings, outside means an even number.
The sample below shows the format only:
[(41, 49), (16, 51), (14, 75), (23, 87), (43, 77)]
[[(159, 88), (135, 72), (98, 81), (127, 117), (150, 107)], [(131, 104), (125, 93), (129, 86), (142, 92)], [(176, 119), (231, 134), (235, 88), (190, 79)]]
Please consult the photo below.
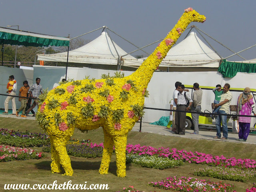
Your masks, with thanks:
[(256, 176), (256, 170), (242, 170), (239, 168), (227, 167), (206, 167), (195, 170), (194, 175), (213, 177), (222, 180), (246, 182), (247, 180)]

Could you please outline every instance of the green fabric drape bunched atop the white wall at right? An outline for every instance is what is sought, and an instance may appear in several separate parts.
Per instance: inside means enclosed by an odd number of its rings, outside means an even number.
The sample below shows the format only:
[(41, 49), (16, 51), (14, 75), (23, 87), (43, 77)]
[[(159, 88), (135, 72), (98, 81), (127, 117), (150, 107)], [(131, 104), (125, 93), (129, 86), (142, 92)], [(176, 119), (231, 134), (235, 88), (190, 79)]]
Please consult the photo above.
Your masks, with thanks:
[(238, 72), (256, 73), (256, 64), (229, 62), (224, 59), (218, 72), (220, 72), (223, 77), (234, 77)]

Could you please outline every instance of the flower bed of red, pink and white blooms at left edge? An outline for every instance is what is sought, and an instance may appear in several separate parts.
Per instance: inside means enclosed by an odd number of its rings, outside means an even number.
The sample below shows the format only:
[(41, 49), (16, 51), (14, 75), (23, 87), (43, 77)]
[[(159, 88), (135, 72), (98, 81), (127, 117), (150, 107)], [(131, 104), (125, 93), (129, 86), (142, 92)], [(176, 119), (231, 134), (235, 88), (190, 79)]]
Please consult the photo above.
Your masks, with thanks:
[(0, 162), (13, 160), (40, 159), (46, 157), (42, 152), (31, 148), (18, 148), (0, 145)]

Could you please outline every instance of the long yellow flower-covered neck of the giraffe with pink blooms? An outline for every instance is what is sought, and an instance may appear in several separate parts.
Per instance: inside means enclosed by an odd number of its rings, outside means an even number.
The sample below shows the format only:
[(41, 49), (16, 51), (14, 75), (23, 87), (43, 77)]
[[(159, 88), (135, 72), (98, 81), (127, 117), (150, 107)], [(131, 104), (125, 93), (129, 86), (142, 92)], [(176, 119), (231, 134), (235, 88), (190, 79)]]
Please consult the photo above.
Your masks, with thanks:
[[(187, 28), (188, 24), (194, 21), (190, 18), (191, 16), (194, 15), (191, 13), (188, 14), (188, 12), (184, 12), (184, 14), (182, 14), (181, 18), (178, 20), (178, 23), (168, 33), (166, 38), (164, 38), (164, 40), (158, 45), (154, 52), (148, 56), (141, 66), (133, 74), (131, 74), (131, 79), (136, 79), (144, 88), (148, 86), (148, 83), (153, 76), (153, 72), (162, 62), (163, 58), (165, 58), (170, 48), (176, 43), (182, 32), (184, 32), (184, 30)], [(204, 20), (201, 19), (199, 21), (203, 22)]]

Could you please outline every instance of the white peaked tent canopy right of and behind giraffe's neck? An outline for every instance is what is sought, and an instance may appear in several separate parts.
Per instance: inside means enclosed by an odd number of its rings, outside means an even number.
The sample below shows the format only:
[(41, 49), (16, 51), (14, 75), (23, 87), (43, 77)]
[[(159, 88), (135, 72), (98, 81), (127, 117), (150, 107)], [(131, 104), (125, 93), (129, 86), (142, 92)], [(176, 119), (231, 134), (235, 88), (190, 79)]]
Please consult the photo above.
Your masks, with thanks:
[[(221, 58), (191, 32), (182, 42), (172, 47), (162, 60), (162, 67), (211, 67), (218, 68)], [(130, 66), (136, 63), (130, 62)]]

